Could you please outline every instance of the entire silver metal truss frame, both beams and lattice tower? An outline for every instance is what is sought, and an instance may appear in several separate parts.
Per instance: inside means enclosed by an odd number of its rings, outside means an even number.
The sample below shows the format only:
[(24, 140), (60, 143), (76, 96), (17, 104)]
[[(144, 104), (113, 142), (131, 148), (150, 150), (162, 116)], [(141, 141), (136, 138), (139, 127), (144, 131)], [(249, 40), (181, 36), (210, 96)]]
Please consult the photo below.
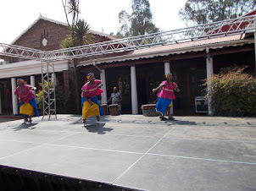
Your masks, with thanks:
[(91, 57), (114, 52), (127, 52), (152, 46), (165, 46), (186, 41), (200, 41), (228, 35), (242, 35), (255, 32), (255, 30), (255, 15), (251, 15), (179, 30), (138, 35), (49, 52), (0, 43), (0, 56), (21, 57), (42, 61), (42, 85), (47, 85), (46, 90), (43, 88), (43, 103), (46, 104), (43, 107), (43, 114), (48, 115), (50, 119), (51, 115), (55, 114), (56, 116), (55, 86), (53, 83), (54, 61)]

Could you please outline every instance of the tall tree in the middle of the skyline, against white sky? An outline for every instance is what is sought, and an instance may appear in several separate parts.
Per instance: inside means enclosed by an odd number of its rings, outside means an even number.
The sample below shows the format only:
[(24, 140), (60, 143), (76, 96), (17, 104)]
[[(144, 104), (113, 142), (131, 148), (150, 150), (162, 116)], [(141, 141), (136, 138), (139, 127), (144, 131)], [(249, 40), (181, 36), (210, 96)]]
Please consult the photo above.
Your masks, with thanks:
[(159, 31), (159, 28), (153, 24), (153, 15), (148, 0), (131, 0), (131, 8), (131, 14), (128, 14), (125, 10), (120, 12), (119, 21), (121, 26), (117, 35), (128, 37)]

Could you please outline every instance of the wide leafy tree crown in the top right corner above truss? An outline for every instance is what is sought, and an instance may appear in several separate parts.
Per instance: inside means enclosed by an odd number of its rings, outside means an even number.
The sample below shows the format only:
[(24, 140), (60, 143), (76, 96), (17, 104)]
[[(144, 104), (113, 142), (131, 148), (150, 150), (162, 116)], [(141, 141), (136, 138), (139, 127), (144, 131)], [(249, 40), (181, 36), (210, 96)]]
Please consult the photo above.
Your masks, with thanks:
[(193, 24), (233, 19), (255, 8), (256, 0), (187, 0), (179, 15)]

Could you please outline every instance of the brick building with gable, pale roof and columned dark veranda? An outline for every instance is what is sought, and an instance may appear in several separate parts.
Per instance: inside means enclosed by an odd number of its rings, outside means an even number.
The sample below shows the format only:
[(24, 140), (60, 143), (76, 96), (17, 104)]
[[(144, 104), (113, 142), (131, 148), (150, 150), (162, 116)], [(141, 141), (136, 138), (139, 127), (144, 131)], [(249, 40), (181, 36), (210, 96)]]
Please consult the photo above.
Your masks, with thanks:
[[(40, 17), (13, 43), (45, 51), (59, 49), (60, 41), (68, 34), (66, 27), (64, 23)], [(92, 33), (97, 36), (96, 42), (114, 40), (111, 35), (96, 31)], [(42, 42), (44, 39), (47, 40), (46, 46), (44, 46), (45, 42)], [(3, 93), (11, 92), (11, 78), (22, 77), (29, 82), (31, 76), (34, 76), (35, 84), (38, 85), (41, 83), (41, 63), (8, 57), (5, 57), (5, 60), (9, 64), (0, 66), (0, 85), (3, 87), (1, 95), (4, 103), (2, 108), (3, 112), (11, 112), (12, 106), (9, 106), (11, 101)], [(56, 61), (54, 69), (63, 89), (74, 92), (74, 80), (69, 77), (68, 72), (69, 62), (68, 60)], [(248, 65), (248, 73), (254, 74), (253, 33), (216, 35), (209, 39), (202, 38), (127, 52), (84, 57), (79, 60), (77, 66), (79, 87), (85, 83), (85, 75), (93, 72), (97, 79), (103, 78), (106, 85), (102, 101), (105, 102), (113, 87), (118, 86), (123, 96), (122, 112), (134, 114), (142, 112), (140, 109), (142, 105), (153, 103), (157, 99), (156, 94), (152, 93), (153, 88), (164, 80), (164, 73), (171, 72), (175, 83), (181, 89), (181, 93), (175, 95), (176, 99), (173, 103), (175, 115), (195, 115), (198, 114), (195, 98), (203, 96), (202, 79), (217, 74), (221, 70), (242, 65)]]

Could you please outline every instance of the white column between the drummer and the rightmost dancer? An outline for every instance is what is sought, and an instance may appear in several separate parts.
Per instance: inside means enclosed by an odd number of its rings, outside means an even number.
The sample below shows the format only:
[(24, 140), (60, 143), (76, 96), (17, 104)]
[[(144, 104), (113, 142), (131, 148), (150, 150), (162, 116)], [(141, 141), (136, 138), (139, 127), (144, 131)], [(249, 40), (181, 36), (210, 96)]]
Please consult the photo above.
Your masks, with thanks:
[(138, 97), (136, 90), (136, 67), (131, 66), (131, 112), (138, 114)]

